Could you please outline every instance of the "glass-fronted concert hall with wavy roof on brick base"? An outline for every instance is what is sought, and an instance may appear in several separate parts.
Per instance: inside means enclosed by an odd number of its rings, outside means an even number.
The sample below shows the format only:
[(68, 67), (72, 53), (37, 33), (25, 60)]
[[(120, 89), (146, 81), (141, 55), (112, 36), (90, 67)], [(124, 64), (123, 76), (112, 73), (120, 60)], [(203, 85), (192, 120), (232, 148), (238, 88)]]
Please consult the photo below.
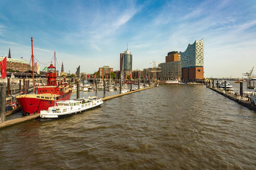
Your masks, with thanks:
[(181, 52), (182, 78), (203, 79), (204, 78), (204, 39), (188, 44), (187, 49)]

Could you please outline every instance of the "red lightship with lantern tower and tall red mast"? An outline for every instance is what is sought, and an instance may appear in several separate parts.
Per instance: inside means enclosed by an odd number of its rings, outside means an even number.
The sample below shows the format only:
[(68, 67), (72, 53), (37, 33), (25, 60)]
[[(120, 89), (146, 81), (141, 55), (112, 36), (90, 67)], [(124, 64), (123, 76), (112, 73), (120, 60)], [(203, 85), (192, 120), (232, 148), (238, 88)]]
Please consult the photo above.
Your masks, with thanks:
[[(32, 38), (31, 38), (32, 43)], [(32, 44), (32, 64), (33, 64), (33, 44)], [(33, 65), (32, 65), (33, 66)], [(34, 68), (32, 68), (34, 70)], [(33, 72), (34, 73), (34, 72)], [(31, 115), (39, 113), (41, 110), (47, 110), (48, 107), (54, 106), (56, 101), (70, 100), (72, 93), (71, 87), (67, 83), (56, 81), (57, 77), (56, 67), (53, 64), (47, 68), (47, 84), (46, 86), (39, 86), (37, 94), (22, 94), (16, 97), (18, 103), (21, 105), (22, 113), (24, 115)], [(34, 74), (33, 74), (34, 79)], [(33, 80), (34, 88), (34, 80)]]

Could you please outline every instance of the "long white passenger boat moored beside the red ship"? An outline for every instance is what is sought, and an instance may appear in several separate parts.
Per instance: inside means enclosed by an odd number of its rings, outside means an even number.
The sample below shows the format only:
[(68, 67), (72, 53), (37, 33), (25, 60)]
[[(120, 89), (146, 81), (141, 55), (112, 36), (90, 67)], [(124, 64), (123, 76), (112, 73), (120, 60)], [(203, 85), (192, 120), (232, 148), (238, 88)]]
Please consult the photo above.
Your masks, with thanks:
[(97, 96), (88, 97), (88, 99), (80, 98), (76, 100), (59, 101), (57, 106), (49, 107), (48, 110), (40, 111), (40, 121), (56, 120), (77, 114), (84, 110), (88, 110), (103, 104), (103, 100)]

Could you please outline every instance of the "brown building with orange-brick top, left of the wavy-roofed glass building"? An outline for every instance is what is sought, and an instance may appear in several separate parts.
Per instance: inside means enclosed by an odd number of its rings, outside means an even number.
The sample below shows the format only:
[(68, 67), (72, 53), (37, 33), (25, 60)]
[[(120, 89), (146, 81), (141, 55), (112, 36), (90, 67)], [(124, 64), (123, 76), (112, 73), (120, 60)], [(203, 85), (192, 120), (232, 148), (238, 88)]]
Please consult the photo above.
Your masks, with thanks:
[(181, 80), (182, 61), (178, 51), (168, 52), (165, 56), (165, 63), (160, 63), (161, 72), (158, 73), (159, 80)]

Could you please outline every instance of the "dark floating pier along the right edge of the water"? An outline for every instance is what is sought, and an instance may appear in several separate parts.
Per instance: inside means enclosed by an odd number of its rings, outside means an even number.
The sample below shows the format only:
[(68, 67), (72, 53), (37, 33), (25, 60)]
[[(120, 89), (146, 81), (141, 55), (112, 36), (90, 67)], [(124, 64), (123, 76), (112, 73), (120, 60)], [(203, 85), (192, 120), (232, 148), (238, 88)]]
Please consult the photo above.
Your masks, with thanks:
[(239, 100), (240, 96), (235, 96), (234, 94), (230, 94), (230, 93), (225, 93), (224, 90), (220, 90), (220, 89), (216, 89), (216, 88), (213, 88), (213, 87), (209, 87), (207, 86), (207, 88), (217, 92), (217, 93), (220, 93), (228, 98), (230, 98), (231, 100), (239, 103), (240, 105), (243, 105), (245, 107), (248, 107), (252, 110), (256, 110), (256, 106), (254, 104), (252, 104), (250, 101), (242, 101), (242, 100)]

